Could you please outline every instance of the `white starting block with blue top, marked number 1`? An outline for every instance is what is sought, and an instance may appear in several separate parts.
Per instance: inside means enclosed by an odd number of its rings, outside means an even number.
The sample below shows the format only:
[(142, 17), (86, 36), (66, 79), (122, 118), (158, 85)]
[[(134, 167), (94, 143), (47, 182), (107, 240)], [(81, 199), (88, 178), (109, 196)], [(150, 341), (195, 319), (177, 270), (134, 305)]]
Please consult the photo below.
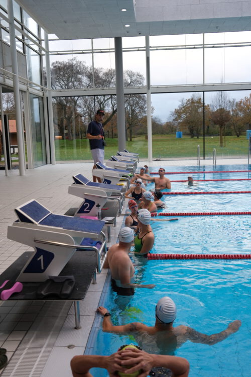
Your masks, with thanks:
[[(8, 238), (34, 248), (17, 281), (45, 281), (58, 276), (76, 250), (96, 252), (97, 271), (105, 260), (105, 222), (53, 214), (36, 200), (15, 209), (18, 220), (8, 226)], [(101, 246), (85, 245), (84, 237)]]

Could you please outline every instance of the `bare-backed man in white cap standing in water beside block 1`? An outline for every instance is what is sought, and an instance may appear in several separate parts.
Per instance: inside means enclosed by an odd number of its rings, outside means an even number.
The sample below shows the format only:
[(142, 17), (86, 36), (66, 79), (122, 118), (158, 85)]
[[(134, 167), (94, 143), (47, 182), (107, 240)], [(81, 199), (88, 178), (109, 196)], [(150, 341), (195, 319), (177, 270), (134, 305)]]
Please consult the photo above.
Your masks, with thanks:
[[(129, 227), (120, 229), (118, 239), (119, 243), (109, 248), (104, 262), (104, 268), (110, 268), (113, 285), (122, 289), (154, 288), (155, 284), (135, 284), (133, 282), (135, 269), (128, 255), (134, 240), (133, 229)], [(126, 291), (124, 293), (129, 296)]]

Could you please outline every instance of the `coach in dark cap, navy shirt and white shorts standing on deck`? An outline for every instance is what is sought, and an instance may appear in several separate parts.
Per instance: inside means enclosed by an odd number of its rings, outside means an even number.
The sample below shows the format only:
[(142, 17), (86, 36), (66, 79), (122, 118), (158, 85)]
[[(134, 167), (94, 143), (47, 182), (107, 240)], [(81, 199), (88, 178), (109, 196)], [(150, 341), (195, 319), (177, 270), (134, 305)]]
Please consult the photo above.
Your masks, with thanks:
[[(102, 126), (102, 121), (104, 119), (104, 111), (99, 109), (96, 112), (95, 120), (90, 122), (87, 129), (87, 139), (90, 142), (90, 149), (92, 158), (94, 161), (93, 169), (96, 168), (95, 163), (101, 162), (104, 163), (104, 130)], [(93, 182), (96, 182), (96, 179), (101, 182), (100, 178), (93, 175)]]

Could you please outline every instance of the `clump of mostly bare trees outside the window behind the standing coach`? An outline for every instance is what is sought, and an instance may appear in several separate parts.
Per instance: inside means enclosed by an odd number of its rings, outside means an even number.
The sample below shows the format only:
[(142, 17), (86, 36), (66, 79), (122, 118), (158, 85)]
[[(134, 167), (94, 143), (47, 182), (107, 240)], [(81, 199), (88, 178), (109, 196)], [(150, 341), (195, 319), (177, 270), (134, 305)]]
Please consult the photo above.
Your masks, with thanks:
[[(115, 70), (94, 68), (88, 66), (85, 62), (76, 58), (68, 61), (55, 61), (51, 66), (52, 88), (55, 90), (69, 89), (89, 89), (115, 87)], [(142, 86), (144, 85), (144, 76), (138, 72), (127, 70), (124, 72), (124, 86)], [(85, 122), (85, 126), (94, 117), (94, 110), (104, 109), (106, 116), (103, 121), (104, 131), (110, 133), (113, 137), (116, 132), (112, 118), (116, 115), (116, 96), (98, 95), (98, 96), (72, 96), (72, 97), (54, 97), (54, 129), (62, 138), (74, 140), (77, 134), (80, 118)], [(140, 125), (140, 119), (146, 114), (145, 95), (127, 95), (125, 96), (125, 114), (126, 127), (129, 130), (130, 140), (132, 140), (133, 128)], [(106, 126), (107, 125), (107, 131)], [(111, 130), (108, 128), (111, 127)]]

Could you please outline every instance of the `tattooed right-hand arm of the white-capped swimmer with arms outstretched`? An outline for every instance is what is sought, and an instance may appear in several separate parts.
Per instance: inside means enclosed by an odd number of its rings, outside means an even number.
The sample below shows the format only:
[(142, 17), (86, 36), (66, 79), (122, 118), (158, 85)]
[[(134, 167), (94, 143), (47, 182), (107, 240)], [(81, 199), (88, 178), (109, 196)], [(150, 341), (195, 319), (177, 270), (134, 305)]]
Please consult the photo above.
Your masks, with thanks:
[(192, 329), (191, 327), (187, 327), (185, 336), (187, 336), (187, 339), (193, 343), (213, 345), (218, 342), (221, 342), (222, 340), (226, 339), (230, 334), (233, 334), (234, 332), (238, 331), (240, 325), (241, 325), (241, 322), (238, 320), (235, 320), (229, 323), (229, 325), (227, 326), (225, 330), (216, 334), (212, 334), (212, 335), (202, 334)]

